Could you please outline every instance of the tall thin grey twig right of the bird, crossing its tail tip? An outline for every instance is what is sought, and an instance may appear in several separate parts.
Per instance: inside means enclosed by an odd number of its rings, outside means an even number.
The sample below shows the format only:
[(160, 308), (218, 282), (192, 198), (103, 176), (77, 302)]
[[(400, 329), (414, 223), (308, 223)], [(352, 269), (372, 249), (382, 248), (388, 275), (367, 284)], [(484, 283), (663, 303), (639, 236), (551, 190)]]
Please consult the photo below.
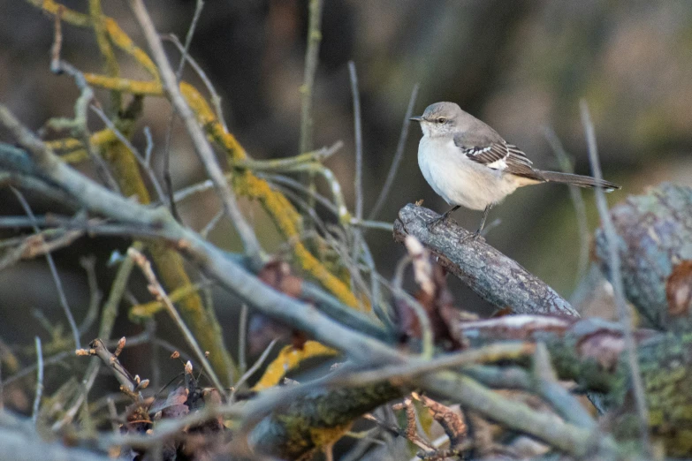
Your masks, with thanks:
[[(591, 162), (591, 172), (597, 181), (603, 180), (603, 172), (601, 171), (601, 163), (598, 160), (598, 147), (596, 143), (596, 132), (593, 122), (589, 114), (589, 106), (585, 100), (580, 103), (582, 110), (582, 125), (586, 132), (586, 140), (589, 146), (589, 162)], [(639, 432), (643, 445), (643, 450), (651, 453), (649, 440), (649, 411), (646, 407), (646, 395), (644, 394), (644, 386), (642, 382), (642, 374), (639, 370), (639, 360), (636, 354), (635, 337), (632, 333), (632, 316), (627, 308), (625, 301), (625, 291), (622, 286), (622, 274), (620, 272), (620, 252), (618, 250), (618, 234), (615, 231), (615, 225), (612, 223), (612, 218), (608, 212), (608, 202), (605, 200), (604, 190), (600, 187), (596, 188), (596, 206), (598, 215), (601, 218), (603, 230), (605, 233), (605, 241), (608, 247), (608, 259), (610, 261), (610, 273), (612, 290), (615, 297), (615, 306), (618, 310), (618, 318), (625, 336), (625, 346), (627, 348), (627, 364), (632, 376), (632, 390), (635, 397), (636, 411), (639, 415)]]

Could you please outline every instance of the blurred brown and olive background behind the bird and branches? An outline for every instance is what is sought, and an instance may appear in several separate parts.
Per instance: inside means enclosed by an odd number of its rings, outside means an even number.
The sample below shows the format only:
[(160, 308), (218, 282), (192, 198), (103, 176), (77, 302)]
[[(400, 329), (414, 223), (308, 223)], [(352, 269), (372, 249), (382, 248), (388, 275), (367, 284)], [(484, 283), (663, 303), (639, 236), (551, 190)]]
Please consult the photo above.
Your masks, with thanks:
[[(87, 8), (83, 0), (65, 4), (80, 11)], [(194, 4), (193, 0), (147, 2), (158, 31), (181, 38)], [(145, 47), (125, 2), (103, 2), (103, 9)], [(19, 0), (0, 0), (0, 11), (0, 101), (34, 129), (49, 117), (72, 117), (78, 96), (72, 79), (49, 72), (52, 20)], [(208, 0), (202, 11), (190, 53), (222, 96), (230, 131), (255, 158), (298, 154), (307, 22), (306, 1)], [(103, 70), (90, 30), (65, 25), (64, 34), (63, 57), (68, 62), (83, 72)], [(558, 169), (544, 137), (545, 127), (551, 127), (573, 157), (575, 170), (588, 174), (579, 114), (584, 98), (596, 126), (605, 178), (623, 185), (622, 191), (609, 195), (611, 204), (661, 181), (692, 185), (692, 3), (686, 0), (329, 0), (323, 9), (322, 34), (314, 97), (315, 146), (344, 141), (345, 147), (327, 165), (340, 180), (350, 209), (354, 116), (349, 60), (356, 65), (361, 89), (366, 215), (392, 162), (416, 83), (420, 93), (414, 115), (432, 102), (458, 102), (521, 147), (541, 169)], [(167, 46), (176, 63), (178, 51)], [(146, 78), (136, 63), (118, 57), (124, 76)], [(189, 69), (185, 79), (202, 88)], [(107, 105), (107, 93), (98, 91), (97, 96)], [(169, 117), (167, 102), (148, 97), (134, 139), (143, 148), (142, 129), (145, 125), (151, 129), (158, 172)], [(95, 129), (102, 127), (93, 115), (91, 122)], [(380, 220), (392, 222), (399, 208), (415, 200), (424, 200), (426, 207), (440, 213), (447, 208), (418, 170), (420, 136), (420, 129), (411, 126), (404, 161)], [(174, 130), (171, 162), (176, 189), (204, 178), (182, 129)], [(327, 194), (323, 186), (321, 191)], [(584, 191), (583, 197), (593, 229), (594, 195)], [(55, 207), (36, 196), (31, 200), (37, 213)], [(214, 194), (206, 193), (180, 209), (187, 224), (202, 229), (217, 207)], [(278, 234), (267, 216), (254, 204), (245, 202), (243, 207), (262, 244), (277, 250)], [(0, 214), (22, 214), (6, 190), (0, 191)], [(326, 213), (323, 217), (333, 221)], [(453, 217), (475, 230), (481, 213), (461, 209)], [(569, 297), (576, 283), (580, 239), (567, 187), (522, 189), (492, 210), (490, 221), (498, 218), (501, 223), (487, 237), (490, 244)], [(219, 246), (240, 248), (229, 225), (219, 225), (210, 238)], [(388, 232), (369, 231), (367, 239), (377, 268), (392, 276), (402, 248)], [(114, 248), (125, 247), (125, 240), (81, 238), (55, 253), (76, 317), (83, 315), (88, 298), (78, 256), (99, 255), (96, 272), (105, 291), (115, 268), (104, 261)], [(139, 280), (139, 274), (133, 279)], [(450, 278), (450, 283), (460, 306), (490, 312), (458, 281)], [(143, 290), (133, 297), (148, 300)], [(41, 330), (38, 322), (34, 327), (27, 321), (27, 312), (34, 308), (51, 321), (64, 322), (42, 258), (0, 272), (0, 336), (28, 344)], [(222, 321), (233, 321), (230, 312), (220, 310)], [(126, 321), (118, 325), (116, 336), (136, 330)]]

